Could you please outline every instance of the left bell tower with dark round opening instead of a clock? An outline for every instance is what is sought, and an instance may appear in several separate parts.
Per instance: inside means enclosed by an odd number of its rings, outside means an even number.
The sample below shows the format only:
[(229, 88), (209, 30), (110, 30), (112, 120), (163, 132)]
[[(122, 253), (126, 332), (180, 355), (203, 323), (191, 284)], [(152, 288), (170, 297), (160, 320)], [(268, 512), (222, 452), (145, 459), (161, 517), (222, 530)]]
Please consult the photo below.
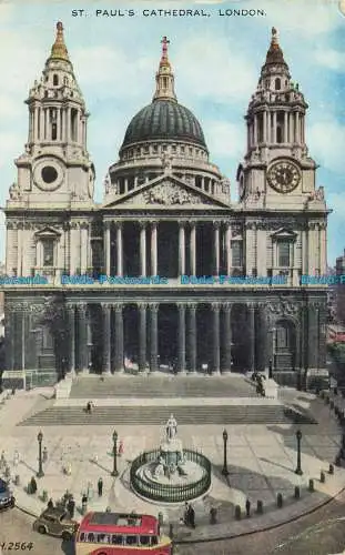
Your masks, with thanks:
[(90, 204), (94, 168), (87, 150), (88, 112), (64, 43), (63, 26), (57, 36), (42, 77), (26, 100), (29, 134), (26, 152), (16, 160), (18, 181), (8, 205), (27, 208)]

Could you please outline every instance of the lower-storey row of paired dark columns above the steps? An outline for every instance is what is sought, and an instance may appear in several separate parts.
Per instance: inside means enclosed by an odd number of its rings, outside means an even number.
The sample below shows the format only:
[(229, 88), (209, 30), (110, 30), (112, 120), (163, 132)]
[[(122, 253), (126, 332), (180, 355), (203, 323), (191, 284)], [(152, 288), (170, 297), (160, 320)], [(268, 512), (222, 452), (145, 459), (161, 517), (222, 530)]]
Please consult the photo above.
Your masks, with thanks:
[[(90, 357), (92, 337), (90, 335), (90, 313), (88, 304), (69, 304), (69, 366), (70, 371), (87, 370)], [(132, 306), (132, 305), (131, 305)], [(156, 302), (139, 302), (139, 371), (150, 367), (151, 372), (159, 370), (159, 310)], [(177, 361), (176, 372), (196, 372), (197, 369), (197, 303), (177, 302)], [(255, 360), (255, 305), (246, 303), (247, 306), (247, 337), (248, 337), (248, 370), (254, 371)], [(125, 303), (105, 302), (101, 304), (103, 333), (103, 372), (121, 372), (124, 369), (124, 309)], [(212, 335), (212, 353), (209, 372), (220, 374), (231, 371), (232, 363), (232, 304), (212, 302), (203, 304), (212, 313), (211, 329), (207, 334)], [(114, 320), (114, 336), (112, 334), (112, 321)], [(149, 325), (146, 325), (149, 323)], [(148, 337), (149, 334), (149, 337)], [(149, 340), (149, 341), (148, 341)], [(112, 344), (114, 345), (114, 357), (112, 360)], [(149, 346), (148, 346), (149, 344)], [(262, 345), (264, 352), (264, 345)], [(78, 364), (77, 364), (78, 360)], [(112, 367), (113, 365), (113, 367)], [(265, 365), (265, 362), (264, 362)]]

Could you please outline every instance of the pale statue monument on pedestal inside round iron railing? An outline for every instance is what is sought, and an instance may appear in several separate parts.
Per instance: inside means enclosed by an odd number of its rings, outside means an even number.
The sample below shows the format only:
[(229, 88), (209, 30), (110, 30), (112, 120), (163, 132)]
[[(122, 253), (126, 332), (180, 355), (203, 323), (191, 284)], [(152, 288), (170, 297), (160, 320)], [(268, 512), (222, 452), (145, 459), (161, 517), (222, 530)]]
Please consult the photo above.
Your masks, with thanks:
[(131, 486), (140, 496), (181, 503), (204, 495), (211, 486), (211, 463), (200, 452), (183, 448), (173, 414), (160, 447), (142, 453), (131, 466)]

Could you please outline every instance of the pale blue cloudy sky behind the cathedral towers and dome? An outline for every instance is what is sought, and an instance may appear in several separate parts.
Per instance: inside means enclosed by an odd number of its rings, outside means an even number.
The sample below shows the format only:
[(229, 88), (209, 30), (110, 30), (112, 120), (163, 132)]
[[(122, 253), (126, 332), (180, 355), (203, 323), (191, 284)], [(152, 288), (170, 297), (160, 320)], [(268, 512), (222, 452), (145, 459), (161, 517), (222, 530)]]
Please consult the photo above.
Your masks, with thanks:
[[(73, 9), (84, 9), (81, 17)], [(124, 17), (97, 17), (97, 9)], [(134, 17), (128, 16), (133, 9)], [(144, 9), (199, 9), (210, 17), (144, 17)], [(264, 10), (257, 17), (223, 17), (219, 10)], [(202, 124), (210, 160), (231, 180), (237, 198), (236, 169), (246, 145), (244, 114), (255, 91), (271, 40), (280, 33), (292, 80), (310, 105), (306, 142), (319, 164), (333, 213), (328, 223), (328, 264), (345, 248), (345, 0), (237, 0), (213, 2), (91, 2), (72, 7), (53, 0), (21, 3), (0, 0), (0, 205), (17, 180), (13, 160), (24, 150), (24, 100), (41, 77), (62, 21), (65, 42), (89, 118), (88, 147), (97, 171), (95, 200), (103, 198), (108, 168), (133, 115), (152, 100), (161, 39), (170, 43), (175, 91)], [(0, 261), (4, 259), (4, 219), (0, 216)]]

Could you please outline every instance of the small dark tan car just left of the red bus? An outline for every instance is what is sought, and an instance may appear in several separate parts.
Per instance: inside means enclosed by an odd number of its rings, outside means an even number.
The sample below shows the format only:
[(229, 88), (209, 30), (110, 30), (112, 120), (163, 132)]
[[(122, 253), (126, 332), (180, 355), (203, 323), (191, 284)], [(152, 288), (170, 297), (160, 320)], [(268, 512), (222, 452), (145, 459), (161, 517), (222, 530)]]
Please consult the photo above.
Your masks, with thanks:
[(40, 534), (71, 539), (79, 528), (77, 521), (70, 518), (69, 513), (61, 507), (45, 508), (33, 525), (33, 529)]

